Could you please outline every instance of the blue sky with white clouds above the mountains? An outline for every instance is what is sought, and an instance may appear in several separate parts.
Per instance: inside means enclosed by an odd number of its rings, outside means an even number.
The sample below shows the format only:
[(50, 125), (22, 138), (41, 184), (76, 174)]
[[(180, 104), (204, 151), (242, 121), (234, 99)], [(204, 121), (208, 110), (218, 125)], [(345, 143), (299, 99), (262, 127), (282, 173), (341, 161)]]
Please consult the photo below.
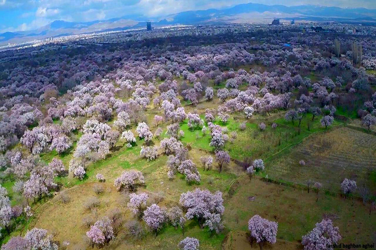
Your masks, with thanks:
[[(143, 15), (158, 18), (185, 10), (224, 8), (252, 0), (0, 0), (0, 33), (34, 30), (55, 20), (94, 21)], [(376, 9), (376, 0), (253, 0), (253, 3)], [(139, 20), (144, 21), (144, 20)]]

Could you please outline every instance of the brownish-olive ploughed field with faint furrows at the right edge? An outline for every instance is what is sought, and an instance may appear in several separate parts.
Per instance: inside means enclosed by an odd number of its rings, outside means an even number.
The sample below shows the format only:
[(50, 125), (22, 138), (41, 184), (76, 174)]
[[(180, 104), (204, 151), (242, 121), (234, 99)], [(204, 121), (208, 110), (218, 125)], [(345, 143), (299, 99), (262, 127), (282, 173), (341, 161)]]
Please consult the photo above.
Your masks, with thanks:
[(332, 192), (340, 191), (344, 178), (375, 192), (376, 136), (348, 127), (317, 133), (268, 162), (266, 169), (270, 177), (300, 184), (319, 181)]

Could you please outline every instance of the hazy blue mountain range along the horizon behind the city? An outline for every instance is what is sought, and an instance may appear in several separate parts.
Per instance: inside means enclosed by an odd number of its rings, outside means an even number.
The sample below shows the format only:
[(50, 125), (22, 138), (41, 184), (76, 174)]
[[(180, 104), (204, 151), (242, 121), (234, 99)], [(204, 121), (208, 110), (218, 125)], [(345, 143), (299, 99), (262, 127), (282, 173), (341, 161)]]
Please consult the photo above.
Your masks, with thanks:
[[(152, 19), (152, 25), (271, 22), (273, 18), (305, 21), (374, 22), (376, 24), (376, 9), (247, 3), (226, 9), (190, 10), (173, 15), (159, 16)], [(91, 22), (56, 20), (37, 30), (2, 33), (0, 34), (0, 45), (70, 34), (141, 28), (146, 27), (146, 20), (148, 19), (150, 18), (142, 15), (126, 15)]]

